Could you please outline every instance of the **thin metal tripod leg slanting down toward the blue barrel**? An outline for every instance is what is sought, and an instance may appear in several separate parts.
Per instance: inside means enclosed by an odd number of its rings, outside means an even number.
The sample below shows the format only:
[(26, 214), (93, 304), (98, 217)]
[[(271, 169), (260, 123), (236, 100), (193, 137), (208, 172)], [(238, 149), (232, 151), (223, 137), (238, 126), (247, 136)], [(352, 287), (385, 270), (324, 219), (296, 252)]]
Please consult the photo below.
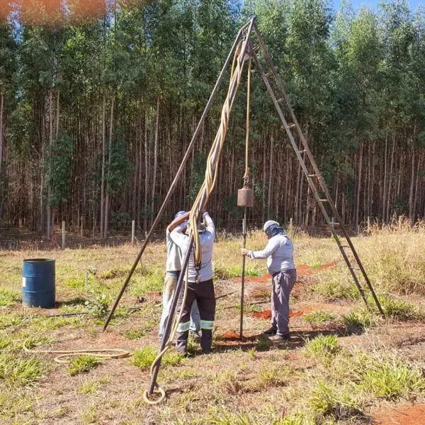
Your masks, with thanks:
[(195, 145), (196, 138), (198, 137), (198, 134), (200, 132), (200, 129), (202, 128), (202, 125), (203, 125), (203, 123), (205, 121), (205, 118), (207, 116), (207, 113), (208, 113), (208, 111), (210, 109), (211, 103), (214, 100), (215, 95), (217, 94), (218, 89), (220, 88), (222, 79), (225, 76), (226, 69), (229, 66), (230, 61), (232, 60), (232, 55), (233, 55), (233, 52), (234, 52), (235, 47), (237, 46), (237, 43), (239, 42), (239, 39), (241, 38), (241, 33), (242, 33), (241, 30), (239, 30), (239, 32), (237, 33), (237, 37), (234, 40), (234, 43), (232, 45), (232, 49), (230, 50), (229, 55), (227, 56), (226, 62), (223, 65), (222, 70), (220, 72), (220, 75), (217, 78), (217, 81), (215, 83), (214, 89), (212, 89), (212, 93), (210, 95), (210, 98), (208, 99), (208, 102), (207, 102), (207, 104), (205, 106), (205, 109), (203, 111), (203, 114), (200, 117), (200, 120), (199, 120), (199, 123), (198, 123), (198, 125), (196, 127), (196, 130), (193, 133), (193, 137), (192, 137), (191, 142), (189, 143), (188, 149), (186, 150), (186, 154), (184, 155), (183, 159), (181, 160), (181, 164), (179, 166), (179, 169), (177, 170), (176, 176), (174, 177), (174, 180), (171, 183), (171, 186), (169, 188), (168, 193), (166, 194), (166, 197), (164, 199), (164, 202), (161, 205), (161, 208), (159, 208), (159, 212), (157, 214), (157, 217), (155, 218), (154, 222), (152, 223), (152, 227), (151, 227), (151, 229), (149, 230), (149, 233), (146, 236), (145, 242), (143, 243), (142, 247), (140, 248), (139, 254), (137, 254), (137, 258), (135, 259), (135, 262), (132, 265), (132, 268), (130, 270), (130, 273), (128, 273), (128, 277), (125, 279), (125, 282), (123, 284), (123, 288), (121, 288), (120, 293), (118, 294), (118, 297), (117, 297), (117, 299), (115, 300), (115, 302), (113, 304), (113, 307), (111, 309), (111, 312), (109, 313), (108, 317), (106, 318), (105, 324), (103, 324), (103, 331), (106, 330), (106, 328), (108, 327), (109, 322), (111, 322), (111, 319), (113, 317), (113, 314), (115, 312), (115, 309), (118, 307), (118, 303), (120, 302), (121, 297), (123, 296), (124, 291), (127, 288), (128, 283), (130, 282), (130, 279), (132, 278), (132, 274), (135, 272), (135, 268), (137, 267), (137, 264), (139, 263), (140, 259), (142, 258), (142, 255), (145, 252), (146, 246), (147, 246), (149, 240), (151, 239), (152, 234), (154, 233), (154, 230), (155, 230), (155, 228), (157, 227), (157, 225), (159, 223), (159, 220), (161, 220), (161, 217), (162, 217), (162, 215), (164, 213), (164, 210), (166, 208), (166, 205), (168, 205), (169, 200), (171, 199), (171, 195), (173, 194), (174, 189), (177, 186), (177, 182), (179, 181), (179, 179), (181, 177), (181, 174), (183, 173), (183, 169), (186, 166), (186, 162), (188, 161), (188, 158), (189, 158), (189, 156), (190, 156), (190, 154), (192, 152), (193, 146)]

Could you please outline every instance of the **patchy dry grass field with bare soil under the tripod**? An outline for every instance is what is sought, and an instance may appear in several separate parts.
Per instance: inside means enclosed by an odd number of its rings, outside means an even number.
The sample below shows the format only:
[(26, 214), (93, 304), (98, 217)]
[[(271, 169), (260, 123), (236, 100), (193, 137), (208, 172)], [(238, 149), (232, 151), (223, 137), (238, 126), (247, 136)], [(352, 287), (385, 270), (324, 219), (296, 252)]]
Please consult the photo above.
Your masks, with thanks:
[[(106, 304), (120, 290), (138, 247), (94, 247), (65, 251), (8, 251), (0, 261), (0, 422), (1, 424), (355, 424), (373, 414), (381, 399), (424, 400), (421, 363), (425, 323), (421, 314), (425, 281), (425, 230), (391, 227), (353, 239), (379, 294), (388, 318), (365, 310), (358, 299), (334, 241), (293, 235), (295, 261), (314, 271), (300, 276), (291, 307), (293, 339), (271, 344), (260, 336), (269, 324), (249, 306), (267, 293), (269, 283), (246, 284), (244, 341), (228, 339), (238, 331), (241, 240), (223, 236), (215, 246), (217, 301), (214, 351), (200, 354), (191, 341), (191, 358), (171, 349), (159, 373), (167, 391), (164, 404), (149, 407), (142, 391), (157, 353), (161, 307), (140, 305), (136, 297), (162, 290), (164, 244), (151, 244), (143, 266), (123, 297), (117, 317), (101, 332)], [(249, 234), (247, 245), (261, 249), (261, 232)], [(23, 310), (21, 264), (29, 256), (57, 260), (58, 310)], [(336, 268), (320, 266), (336, 261)], [(247, 261), (248, 276), (266, 271), (265, 261)], [(86, 272), (88, 278), (86, 278)], [(130, 307), (140, 307), (131, 310)], [(226, 308), (232, 307), (232, 308)], [(89, 312), (81, 316), (46, 317), (53, 312)], [(312, 331), (312, 325), (314, 330)], [(323, 334), (323, 336), (318, 336)], [(69, 374), (49, 355), (24, 354), (28, 346), (53, 349), (115, 347), (130, 350), (130, 360), (80, 362), (84, 373)], [(396, 350), (397, 348), (397, 350)], [(84, 360), (84, 359), (83, 359)], [(87, 360), (87, 359), (86, 359)], [(84, 363), (84, 364), (83, 364)], [(89, 365), (87, 365), (89, 364)], [(81, 366), (81, 367), (82, 367)], [(96, 366), (96, 367), (94, 367)], [(360, 419), (359, 419), (360, 418)], [(365, 420), (365, 419), (364, 419)]]

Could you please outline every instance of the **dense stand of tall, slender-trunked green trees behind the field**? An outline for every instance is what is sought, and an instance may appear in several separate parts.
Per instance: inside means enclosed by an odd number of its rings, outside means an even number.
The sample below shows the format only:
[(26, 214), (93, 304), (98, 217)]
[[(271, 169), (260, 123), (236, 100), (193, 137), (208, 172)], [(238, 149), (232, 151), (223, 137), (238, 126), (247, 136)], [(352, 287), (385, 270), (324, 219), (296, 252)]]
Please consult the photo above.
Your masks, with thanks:
[[(0, 224), (146, 231), (239, 26), (253, 13), (347, 225), (425, 218), (425, 9), (326, 0), (17, 0), (0, 5)], [(203, 181), (223, 84), (162, 225)], [(246, 76), (208, 209), (240, 227)], [(322, 217), (256, 69), (251, 225)]]

